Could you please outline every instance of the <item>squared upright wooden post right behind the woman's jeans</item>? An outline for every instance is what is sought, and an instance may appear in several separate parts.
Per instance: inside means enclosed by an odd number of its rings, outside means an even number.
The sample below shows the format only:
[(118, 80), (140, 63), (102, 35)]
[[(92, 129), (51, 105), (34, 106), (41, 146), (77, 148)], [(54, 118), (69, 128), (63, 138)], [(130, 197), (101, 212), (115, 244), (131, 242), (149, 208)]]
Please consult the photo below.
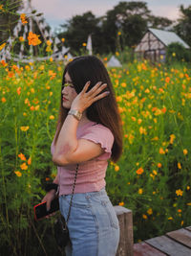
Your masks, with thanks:
[(120, 239), (116, 256), (133, 256), (134, 236), (132, 211), (122, 206), (114, 206), (114, 208), (120, 226)]

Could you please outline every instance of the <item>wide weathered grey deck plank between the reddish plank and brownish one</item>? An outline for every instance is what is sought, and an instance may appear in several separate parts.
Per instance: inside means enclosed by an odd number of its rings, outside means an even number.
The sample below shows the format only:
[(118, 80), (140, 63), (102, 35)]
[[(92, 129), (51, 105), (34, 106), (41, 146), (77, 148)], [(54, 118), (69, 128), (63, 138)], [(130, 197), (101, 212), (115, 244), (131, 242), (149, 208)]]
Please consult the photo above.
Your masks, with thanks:
[(162, 251), (168, 255), (172, 255), (172, 256), (191, 255), (190, 248), (188, 248), (182, 244), (179, 244), (176, 241), (174, 241), (166, 236), (152, 238), (152, 239), (146, 240), (145, 243), (158, 248), (160, 251)]

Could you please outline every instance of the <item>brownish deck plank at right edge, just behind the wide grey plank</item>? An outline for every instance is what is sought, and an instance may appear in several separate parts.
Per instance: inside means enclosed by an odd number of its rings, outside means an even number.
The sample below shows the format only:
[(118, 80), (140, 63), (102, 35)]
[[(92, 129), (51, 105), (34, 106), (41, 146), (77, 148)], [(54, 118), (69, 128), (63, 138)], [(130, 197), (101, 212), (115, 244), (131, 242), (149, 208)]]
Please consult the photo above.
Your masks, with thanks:
[(168, 233), (166, 233), (166, 236), (191, 248), (191, 232), (184, 228), (168, 232)]

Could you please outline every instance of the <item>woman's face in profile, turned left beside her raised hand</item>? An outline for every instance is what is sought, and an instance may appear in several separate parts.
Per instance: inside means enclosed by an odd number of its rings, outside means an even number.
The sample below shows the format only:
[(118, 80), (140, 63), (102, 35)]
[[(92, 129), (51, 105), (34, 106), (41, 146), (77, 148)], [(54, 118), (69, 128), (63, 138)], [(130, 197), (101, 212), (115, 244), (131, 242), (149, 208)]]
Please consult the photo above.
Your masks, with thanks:
[(62, 89), (62, 105), (64, 108), (70, 109), (74, 101), (74, 98), (77, 96), (77, 93), (74, 89), (73, 82), (67, 72), (65, 74), (65, 85)]

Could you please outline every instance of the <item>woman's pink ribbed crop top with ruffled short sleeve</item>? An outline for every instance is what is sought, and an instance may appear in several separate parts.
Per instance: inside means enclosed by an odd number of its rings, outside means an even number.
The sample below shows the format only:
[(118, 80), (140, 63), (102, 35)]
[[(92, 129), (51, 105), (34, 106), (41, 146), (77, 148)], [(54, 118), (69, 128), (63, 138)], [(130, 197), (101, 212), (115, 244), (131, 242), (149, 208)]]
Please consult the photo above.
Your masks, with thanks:
[[(104, 152), (90, 161), (79, 164), (74, 193), (99, 191), (105, 186), (107, 160), (111, 157), (114, 136), (109, 128), (94, 122), (78, 127), (76, 136), (77, 139), (87, 139), (100, 144)], [(53, 150), (54, 146), (52, 143), (52, 154)], [(72, 194), (75, 168), (76, 165), (74, 164), (57, 167), (59, 195)]]

